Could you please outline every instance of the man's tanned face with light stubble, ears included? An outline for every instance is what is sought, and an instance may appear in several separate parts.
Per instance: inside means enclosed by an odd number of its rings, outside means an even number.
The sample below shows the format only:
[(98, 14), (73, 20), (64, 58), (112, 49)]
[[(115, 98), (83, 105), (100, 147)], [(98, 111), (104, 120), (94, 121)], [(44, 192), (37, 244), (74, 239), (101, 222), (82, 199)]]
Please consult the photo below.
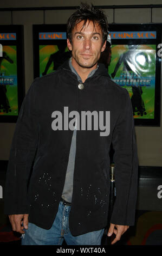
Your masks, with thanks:
[(67, 45), (72, 51), (72, 64), (74, 68), (93, 68), (100, 58), (100, 54), (105, 50), (106, 41), (103, 44), (102, 30), (97, 23), (87, 21), (85, 27), (83, 21), (78, 23), (72, 31), (72, 44), (67, 39)]

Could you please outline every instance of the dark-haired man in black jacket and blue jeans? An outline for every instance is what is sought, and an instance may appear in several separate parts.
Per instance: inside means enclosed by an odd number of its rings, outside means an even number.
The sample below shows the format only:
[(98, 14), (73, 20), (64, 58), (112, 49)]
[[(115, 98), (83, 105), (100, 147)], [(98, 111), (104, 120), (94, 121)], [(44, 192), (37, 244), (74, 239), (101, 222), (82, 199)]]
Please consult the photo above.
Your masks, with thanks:
[(127, 90), (98, 65), (107, 31), (102, 11), (81, 4), (67, 22), (72, 58), (36, 78), (23, 101), (5, 191), (5, 213), (13, 230), (23, 234), (22, 245), (61, 245), (64, 239), (68, 245), (101, 244), (111, 143), (116, 181), (108, 230), (116, 235), (112, 244), (134, 224), (134, 121)]

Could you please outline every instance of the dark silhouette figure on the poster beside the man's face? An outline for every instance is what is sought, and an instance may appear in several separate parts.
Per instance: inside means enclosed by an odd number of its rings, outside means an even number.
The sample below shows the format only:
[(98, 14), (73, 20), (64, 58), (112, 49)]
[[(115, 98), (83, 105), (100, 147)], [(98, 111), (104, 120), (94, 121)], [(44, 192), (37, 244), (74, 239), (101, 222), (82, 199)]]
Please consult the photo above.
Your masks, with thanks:
[(65, 52), (66, 47), (67, 47), (67, 42), (63, 42), (61, 44), (59, 44), (59, 51), (57, 51), (56, 53), (52, 53), (49, 57), (49, 60), (47, 62), (46, 68), (44, 70), (44, 72), (42, 73), (42, 75), (46, 75), (47, 71), (51, 65), (51, 63), (54, 63), (54, 68), (53, 70), (57, 70), (63, 63), (65, 60), (69, 59), (71, 57), (71, 53), (69, 51)]

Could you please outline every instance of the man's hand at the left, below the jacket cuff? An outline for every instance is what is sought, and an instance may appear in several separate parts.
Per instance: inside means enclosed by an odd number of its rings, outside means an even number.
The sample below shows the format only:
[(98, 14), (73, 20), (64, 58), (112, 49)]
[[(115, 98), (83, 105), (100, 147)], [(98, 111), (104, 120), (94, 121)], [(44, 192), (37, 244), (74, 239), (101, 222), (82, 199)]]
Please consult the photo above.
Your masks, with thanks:
[[(12, 230), (24, 234), (23, 229), (28, 229), (28, 216), (29, 214), (11, 214), (9, 220), (12, 225)], [(23, 220), (23, 221), (22, 221)], [(23, 226), (22, 226), (23, 223)]]

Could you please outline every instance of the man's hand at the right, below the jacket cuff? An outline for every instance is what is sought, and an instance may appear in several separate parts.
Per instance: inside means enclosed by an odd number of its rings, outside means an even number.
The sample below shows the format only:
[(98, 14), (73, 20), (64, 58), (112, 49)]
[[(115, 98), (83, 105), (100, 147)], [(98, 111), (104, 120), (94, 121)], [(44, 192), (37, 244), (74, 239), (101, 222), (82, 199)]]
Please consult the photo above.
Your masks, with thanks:
[(124, 234), (128, 228), (129, 226), (127, 225), (115, 225), (111, 223), (107, 235), (111, 236), (113, 233), (116, 235), (111, 244), (113, 245), (115, 242), (119, 241), (121, 235)]

